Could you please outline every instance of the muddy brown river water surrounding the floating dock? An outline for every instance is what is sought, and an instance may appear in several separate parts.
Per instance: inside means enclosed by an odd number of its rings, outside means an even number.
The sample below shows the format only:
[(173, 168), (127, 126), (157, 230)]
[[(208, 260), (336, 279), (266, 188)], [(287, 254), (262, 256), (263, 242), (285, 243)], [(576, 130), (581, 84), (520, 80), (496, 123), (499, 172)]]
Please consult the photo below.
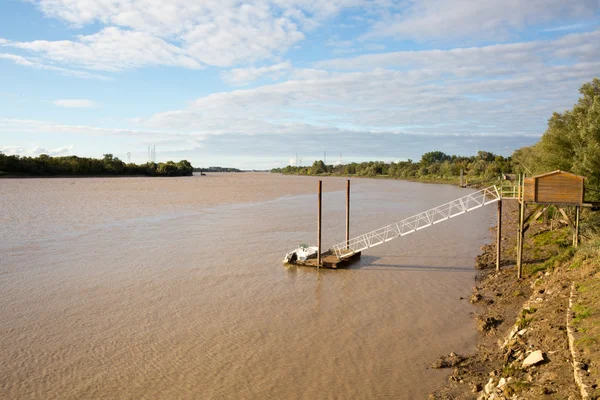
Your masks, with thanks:
[[(488, 206), (363, 253), (286, 268), (316, 238), (316, 179), (271, 174), (0, 180), (7, 399), (416, 399), (474, 351), (465, 300)], [(345, 180), (325, 178), (324, 245)], [(465, 189), (355, 179), (352, 236)]]

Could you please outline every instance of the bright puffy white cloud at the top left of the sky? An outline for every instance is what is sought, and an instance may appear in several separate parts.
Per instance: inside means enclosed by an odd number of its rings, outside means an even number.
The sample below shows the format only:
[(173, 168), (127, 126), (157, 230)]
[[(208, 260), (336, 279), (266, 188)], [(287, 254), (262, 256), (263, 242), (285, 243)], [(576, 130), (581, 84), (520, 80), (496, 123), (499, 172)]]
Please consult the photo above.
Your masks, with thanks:
[(271, 59), (346, 7), (367, 0), (30, 0), (48, 17), (104, 26), (76, 40), (11, 42), (56, 63), (104, 71), (148, 65), (229, 67)]

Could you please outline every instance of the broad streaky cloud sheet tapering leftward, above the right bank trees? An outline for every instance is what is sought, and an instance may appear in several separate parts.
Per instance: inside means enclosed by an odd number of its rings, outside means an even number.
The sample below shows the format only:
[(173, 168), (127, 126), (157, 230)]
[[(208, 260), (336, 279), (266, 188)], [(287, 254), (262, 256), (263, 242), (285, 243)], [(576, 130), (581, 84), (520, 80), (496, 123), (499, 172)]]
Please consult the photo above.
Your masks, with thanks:
[[(539, 135), (600, 70), (600, 31), (477, 48), (395, 52), (293, 70), (138, 122), (204, 134), (388, 132)], [(391, 69), (385, 69), (385, 68)]]

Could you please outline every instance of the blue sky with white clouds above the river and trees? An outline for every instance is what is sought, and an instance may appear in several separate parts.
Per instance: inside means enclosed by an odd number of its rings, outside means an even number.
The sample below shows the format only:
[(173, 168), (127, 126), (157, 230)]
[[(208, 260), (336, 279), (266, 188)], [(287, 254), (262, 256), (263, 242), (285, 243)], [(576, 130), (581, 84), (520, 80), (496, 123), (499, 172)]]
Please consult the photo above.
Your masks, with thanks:
[(599, 76), (600, 0), (0, 0), (5, 154), (508, 156)]

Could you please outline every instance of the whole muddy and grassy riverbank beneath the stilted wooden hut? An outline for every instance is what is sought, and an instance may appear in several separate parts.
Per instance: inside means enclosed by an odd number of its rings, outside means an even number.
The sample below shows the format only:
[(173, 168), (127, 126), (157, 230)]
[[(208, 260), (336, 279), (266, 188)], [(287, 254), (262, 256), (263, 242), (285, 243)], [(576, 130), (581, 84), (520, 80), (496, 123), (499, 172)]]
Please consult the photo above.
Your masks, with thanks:
[(598, 398), (599, 243), (592, 240), (574, 251), (568, 227), (550, 230), (541, 222), (532, 224), (518, 280), (518, 205), (504, 203), (502, 269), (495, 271), (495, 244), (484, 246), (469, 299), (477, 307), (478, 351), (434, 363), (453, 371), (447, 385), (430, 398), (580, 398), (575, 376), (587, 387), (588, 398)]

